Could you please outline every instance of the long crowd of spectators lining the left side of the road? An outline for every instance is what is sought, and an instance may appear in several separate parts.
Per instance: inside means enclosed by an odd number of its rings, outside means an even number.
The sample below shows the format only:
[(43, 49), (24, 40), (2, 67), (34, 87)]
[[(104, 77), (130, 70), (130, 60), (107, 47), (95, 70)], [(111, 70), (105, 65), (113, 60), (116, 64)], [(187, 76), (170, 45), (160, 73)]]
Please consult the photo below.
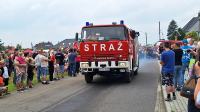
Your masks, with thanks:
[(14, 53), (0, 53), (0, 96), (10, 94), (9, 82), (16, 86), (18, 92), (33, 88), (33, 79), (44, 85), (79, 73), (80, 56), (76, 49), (62, 51), (61, 49), (37, 50), (24, 52), (15, 49)]

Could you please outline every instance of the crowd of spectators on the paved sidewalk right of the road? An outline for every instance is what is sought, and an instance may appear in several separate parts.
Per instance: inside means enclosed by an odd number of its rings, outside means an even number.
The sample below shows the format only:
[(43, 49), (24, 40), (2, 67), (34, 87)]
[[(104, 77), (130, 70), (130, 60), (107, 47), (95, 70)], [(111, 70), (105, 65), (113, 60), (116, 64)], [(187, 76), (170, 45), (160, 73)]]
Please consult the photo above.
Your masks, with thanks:
[[(184, 83), (191, 76), (200, 76), (200, 42), (184, 39), (180, 43), (164, 43), (159, 47), (162, 65), (162, 83), (166, 85), (165, 101), (176, 100), (176, 91), (181, 91)], [(198, 79), (196, 88), (200, 87)], [(195, 90), (196, 91), (196, 90)], [(172, 93), (172, 98), (171, 98)], [(188, 112), (200, 112), (194, 99), (188, 98)]]

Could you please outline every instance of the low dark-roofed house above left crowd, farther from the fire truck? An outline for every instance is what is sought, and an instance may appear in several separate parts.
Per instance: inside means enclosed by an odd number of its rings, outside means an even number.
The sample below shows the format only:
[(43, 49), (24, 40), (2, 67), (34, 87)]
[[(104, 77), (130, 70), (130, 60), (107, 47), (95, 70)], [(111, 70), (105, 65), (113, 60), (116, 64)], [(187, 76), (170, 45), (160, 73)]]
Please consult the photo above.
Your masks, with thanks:
[(40, 49), (50, 49), (50, 48), (53, 48), (53, 44), (51, 42), (41, 42), (41, 43), (38, 43), (34, 46), (34, 48), (36, 48), (37, 50), (40, 50)]

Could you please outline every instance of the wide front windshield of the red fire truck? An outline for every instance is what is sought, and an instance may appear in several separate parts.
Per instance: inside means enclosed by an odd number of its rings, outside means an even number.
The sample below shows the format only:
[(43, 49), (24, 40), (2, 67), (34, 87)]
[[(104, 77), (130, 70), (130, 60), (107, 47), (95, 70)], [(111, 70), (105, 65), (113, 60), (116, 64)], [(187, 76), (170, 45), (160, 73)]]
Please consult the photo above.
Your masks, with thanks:
[(83, 28), (82, 39), (85, 41), (125, 40), (125, 28), (122, 26)]

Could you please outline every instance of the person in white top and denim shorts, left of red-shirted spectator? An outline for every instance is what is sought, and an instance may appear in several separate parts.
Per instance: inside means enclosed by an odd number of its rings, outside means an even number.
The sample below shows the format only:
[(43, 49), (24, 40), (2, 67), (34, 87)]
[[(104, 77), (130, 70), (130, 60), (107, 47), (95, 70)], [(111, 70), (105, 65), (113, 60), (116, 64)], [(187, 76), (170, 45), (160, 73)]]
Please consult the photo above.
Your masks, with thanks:
[(42, 84), (49, 84), (47, 81), (47, 72), (48, 72), (48, 61), (49, 59), (45, 56), (45, 52), (41, 56), (41, 72), (42, 72)]

